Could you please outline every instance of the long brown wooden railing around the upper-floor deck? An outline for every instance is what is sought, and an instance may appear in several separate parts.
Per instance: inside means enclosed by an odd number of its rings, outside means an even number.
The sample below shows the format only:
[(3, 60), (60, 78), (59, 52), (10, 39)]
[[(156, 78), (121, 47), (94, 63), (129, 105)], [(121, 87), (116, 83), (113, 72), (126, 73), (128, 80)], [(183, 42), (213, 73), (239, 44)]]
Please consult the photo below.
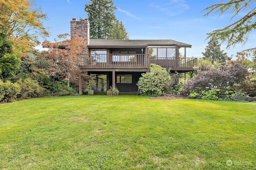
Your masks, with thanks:
[(196, 58), (149, 58), (145, 54), (86, 54), (78, 57), (81, 68), (148, 68), (153, 63), (167, 70), (192, 70), (197, 65)]

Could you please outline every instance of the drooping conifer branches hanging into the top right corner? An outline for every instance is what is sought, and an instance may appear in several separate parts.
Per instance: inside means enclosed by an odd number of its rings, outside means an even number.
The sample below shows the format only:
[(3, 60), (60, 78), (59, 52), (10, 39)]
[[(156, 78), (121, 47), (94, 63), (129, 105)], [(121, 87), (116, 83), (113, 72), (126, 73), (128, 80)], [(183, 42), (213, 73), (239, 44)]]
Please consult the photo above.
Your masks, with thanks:
[[(235, 46), (237, 43), (245, 45), (249, 34), (256, 29), (256, 7), (254, 3), (256, 3), (255, 0), (229, 0), (226, 3), (222, 0), (219, 4), (214, 4), (204, 9), (204, 11), (207, 11), (204, 16), (209, 16), (210, 13), (214, 12), (220, 13), (219, 17), (224, 14), (224, 12), (230, 12), (231, 10), (234, 15), (231, 17), (230, 21), (238, 16), (238, 14), (249, 11), (245, 16), (234, 23), (208, 33), (208, 38), (214, 37), (222, 42), (227, 41), (227, 48)], [(252, 8), (251, 10), (250, 7)]]

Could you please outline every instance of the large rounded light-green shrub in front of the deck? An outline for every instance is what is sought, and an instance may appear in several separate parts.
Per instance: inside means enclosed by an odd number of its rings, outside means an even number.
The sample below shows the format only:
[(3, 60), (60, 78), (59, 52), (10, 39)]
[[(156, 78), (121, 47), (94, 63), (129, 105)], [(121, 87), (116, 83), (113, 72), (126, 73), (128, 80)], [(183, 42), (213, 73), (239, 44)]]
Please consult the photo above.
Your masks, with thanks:
[(166, 69), (156, 64), (150, 64), (149, 72), (141, 75), (137, 85), (142, 94), (146, 96), (160, 96), (168, 82), (171, 81)]

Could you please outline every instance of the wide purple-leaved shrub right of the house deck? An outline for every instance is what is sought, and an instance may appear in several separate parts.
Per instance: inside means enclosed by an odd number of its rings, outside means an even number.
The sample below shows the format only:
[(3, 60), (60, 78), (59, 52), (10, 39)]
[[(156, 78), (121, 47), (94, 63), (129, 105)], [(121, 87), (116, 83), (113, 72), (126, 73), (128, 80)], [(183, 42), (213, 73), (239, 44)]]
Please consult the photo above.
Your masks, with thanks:
[(220, 64), (220, 68), (212, 68), (208, 71), (199, 72), (188, 81), (182, 90), (182, 94), (189, 94), (190, 91), (208, 91), (212, 88), (232, 86), (234, 83), (242, 82), (248, 76), (246, 66), (234, 61)]

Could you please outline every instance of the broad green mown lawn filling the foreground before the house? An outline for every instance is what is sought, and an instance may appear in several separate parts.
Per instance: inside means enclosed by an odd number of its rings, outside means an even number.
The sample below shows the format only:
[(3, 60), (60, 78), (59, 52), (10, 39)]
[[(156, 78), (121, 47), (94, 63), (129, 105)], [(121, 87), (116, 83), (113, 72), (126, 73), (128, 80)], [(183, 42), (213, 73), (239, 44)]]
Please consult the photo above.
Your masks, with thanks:
[(1, 104), (0, 169), (255, 169), (255, 110), (128, 95)]

